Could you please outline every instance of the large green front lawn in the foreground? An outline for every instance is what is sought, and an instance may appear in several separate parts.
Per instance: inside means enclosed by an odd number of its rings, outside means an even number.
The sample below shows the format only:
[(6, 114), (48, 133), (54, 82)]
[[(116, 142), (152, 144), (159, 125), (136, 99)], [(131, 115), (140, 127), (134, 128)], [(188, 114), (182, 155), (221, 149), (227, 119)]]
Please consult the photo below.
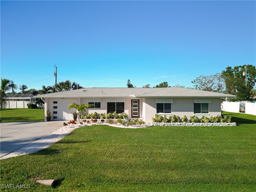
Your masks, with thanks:
[[(256, 191), (256, 121), (236, 127), (78, 128), (34, 154), (1, 160), (27, 191)], [(34, 182), (59, 179), (56, 188)]]

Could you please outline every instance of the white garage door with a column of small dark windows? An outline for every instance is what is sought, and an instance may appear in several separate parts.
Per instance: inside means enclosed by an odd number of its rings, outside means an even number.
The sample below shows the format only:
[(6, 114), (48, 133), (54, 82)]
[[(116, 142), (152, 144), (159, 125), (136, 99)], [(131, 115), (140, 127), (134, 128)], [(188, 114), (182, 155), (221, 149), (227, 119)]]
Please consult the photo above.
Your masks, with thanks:
[(76, 102), (76, 100), (52, 101), (52, 120), (73, 120), (71, 112), (76, 109), (72, 108), (68, 110), (68, 105)]

